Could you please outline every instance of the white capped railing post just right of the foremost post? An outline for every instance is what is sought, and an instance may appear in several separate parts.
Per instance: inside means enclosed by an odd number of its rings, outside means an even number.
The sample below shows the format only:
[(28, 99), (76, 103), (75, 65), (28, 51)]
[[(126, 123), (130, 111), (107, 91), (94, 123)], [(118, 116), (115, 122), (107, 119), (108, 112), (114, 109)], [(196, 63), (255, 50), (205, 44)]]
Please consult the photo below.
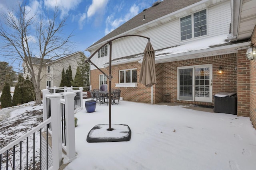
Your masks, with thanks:
[(66, 117), (66, 150), (67, 155), (63, 163), (69, 163), (76, 158), (75, 143), (75, 116), (74, 116), (74, 96), (76, 93), (66, 92), (63, 94), (65, 98), (65, 117)]

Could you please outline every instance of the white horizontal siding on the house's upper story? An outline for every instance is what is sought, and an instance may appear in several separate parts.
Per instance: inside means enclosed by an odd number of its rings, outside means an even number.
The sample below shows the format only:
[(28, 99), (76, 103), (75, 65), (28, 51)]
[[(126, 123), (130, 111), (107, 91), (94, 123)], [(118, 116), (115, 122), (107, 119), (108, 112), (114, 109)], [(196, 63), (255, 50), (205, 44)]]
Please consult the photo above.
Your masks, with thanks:
[[(200, 8), (200, 10), (203, 10)], [(221, 2), (220, 4), (208, 7), (208, 34), (195, 39), (207, 39), (208, 37), (229, 34), (229, 25), (231, 20), (230, 1)], [(183, 17), (183, 16), (182, 16)], [(193, 41), (188, 39), (180, 41), (180, 18), (157, 25), (140, 32), (139, 35), (150, 37), (150, 41), (154, 50), (171, 47)], [(124, 37), (112, 42), (112, 60), (120, 57), (136, 55), (143, 53), (147, 39), (142, 37)], [(109, 46), (108, 46), (109, 54)], [(109, 56), (98, 58), (98, 54), (92, 57), (91, 61), (99, 68), (103, 67), (104, 63), (109, 62)], [(96, 69), (94, 66), (91, 69)]]

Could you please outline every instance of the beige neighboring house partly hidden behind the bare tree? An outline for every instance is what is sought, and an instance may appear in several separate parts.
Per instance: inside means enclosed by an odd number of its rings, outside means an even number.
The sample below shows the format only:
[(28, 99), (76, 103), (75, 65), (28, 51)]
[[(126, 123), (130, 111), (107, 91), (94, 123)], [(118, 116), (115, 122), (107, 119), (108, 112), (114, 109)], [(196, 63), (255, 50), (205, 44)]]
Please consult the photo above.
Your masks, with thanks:
[[(84, 53), (82, 53), (81, 51), (78, 51), (76, 53), (72, 53), (65, 57), (62, 57), (53, 61), (48, 61), (44, 66), (44, 68), (42, 69), (42, 73), (41, 73), (42, 80), (41, 80), (40, 90), (45, 89), (46, 86), (59, 87), (60, 81), (62, 78), (62, 69), (64, 68), (66, 73), (66, 70), (68, 69), (69, 64), (71, 66), (72, 78), (74, 80), (78, 62), (80, 62), (80, 55), (84, 55)], [(40, 62), (40, 59), (36, 57), (33, 57), (32, 59), (34, 63), (34, 70), (38, 75), (37, 66)], [(22, 67), (24, 68), (24, 78), (26, 78), (26, 76), (29, 75), (29, 73), (24, 63), (22, 63)]]

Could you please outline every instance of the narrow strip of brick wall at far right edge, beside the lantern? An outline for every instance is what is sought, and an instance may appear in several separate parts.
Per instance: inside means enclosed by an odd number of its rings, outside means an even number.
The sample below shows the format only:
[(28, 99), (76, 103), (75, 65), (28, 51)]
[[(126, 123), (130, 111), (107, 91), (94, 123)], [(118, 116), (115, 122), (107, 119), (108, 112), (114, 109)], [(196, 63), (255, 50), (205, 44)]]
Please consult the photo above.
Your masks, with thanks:
[[(256, 44), (256, 27), (251, 39)], [(256, 60), (250, 61), (250, 119), (256, 129)]]

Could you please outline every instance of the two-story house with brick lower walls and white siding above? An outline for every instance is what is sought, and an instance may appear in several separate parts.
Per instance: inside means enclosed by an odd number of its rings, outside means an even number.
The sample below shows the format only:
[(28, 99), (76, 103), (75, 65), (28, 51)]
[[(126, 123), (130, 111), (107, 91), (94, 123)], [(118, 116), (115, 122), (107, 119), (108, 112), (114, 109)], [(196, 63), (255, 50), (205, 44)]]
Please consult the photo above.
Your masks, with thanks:
[[(124, 100), (150, 103), (153, 94), (152, 102), (158, 103), (170, 93), (171, 102), (214, 105), (214, 94), (235, 92), (238, 115), (250, 116), (251, 101), (252, 117), (256, 101), (250, 100), (252, 66), (245, 53), (255, 23), (255, 0), (163, 0), (86, 50), (92, 54), (121, 35), (149, 37), (155, 50), (157, 79), (152, 89), (138, 83), (148, 40), (124, 37), (112, 41), (111, 86), (122, 90)], [(102, 47), (91, 61), (108, 74), (109, 45)], [(220, 67), (222, 73), (218, 72)], [(90, 76), (92, 89), (99, 88), (102, 73), (91, 66)]]

